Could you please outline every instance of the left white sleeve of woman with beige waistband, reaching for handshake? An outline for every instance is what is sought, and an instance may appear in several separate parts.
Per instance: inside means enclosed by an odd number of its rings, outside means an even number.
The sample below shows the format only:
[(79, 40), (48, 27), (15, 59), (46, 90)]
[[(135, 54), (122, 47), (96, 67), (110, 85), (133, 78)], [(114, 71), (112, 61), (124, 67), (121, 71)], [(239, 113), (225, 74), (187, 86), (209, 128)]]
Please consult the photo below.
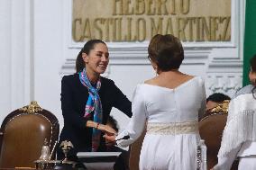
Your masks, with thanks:
[[(136, 139), (142, 135), (144, 130), (146, 116), (146, 105), (143, 97), (142, 86), (137, 85), (133, 93), (132, 111), (133, 116), (130, 119), (128, 126), (123, 130), (115, 139), (116, 143), (120, 147), (127, 147), (131, 145)], [(122, 139), (124, 136), (129, 135), (130, 139)]]

